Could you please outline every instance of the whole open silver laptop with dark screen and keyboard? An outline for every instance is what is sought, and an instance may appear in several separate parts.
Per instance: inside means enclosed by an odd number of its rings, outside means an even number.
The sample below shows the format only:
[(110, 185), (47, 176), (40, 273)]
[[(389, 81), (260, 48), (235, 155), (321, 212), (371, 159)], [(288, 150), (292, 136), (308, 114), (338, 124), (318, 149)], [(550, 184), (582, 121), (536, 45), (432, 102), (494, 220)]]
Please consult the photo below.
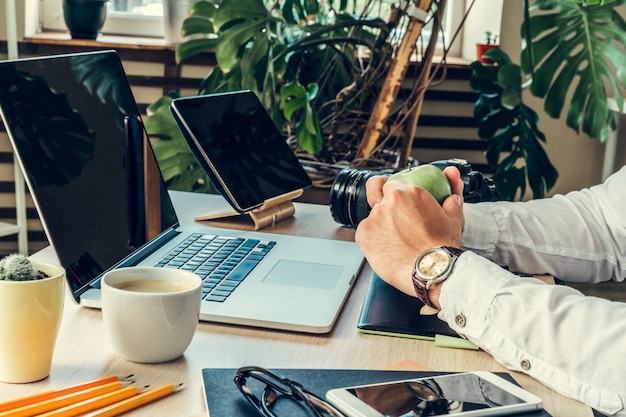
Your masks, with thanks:
[(201, 320), (332, 329), (364, 262), (356, 245), (181, 226), (115, 51), (0, 62), (0, 116), (80, 305), (100, 308), (113, 268), (192, 268), (206, 276)]

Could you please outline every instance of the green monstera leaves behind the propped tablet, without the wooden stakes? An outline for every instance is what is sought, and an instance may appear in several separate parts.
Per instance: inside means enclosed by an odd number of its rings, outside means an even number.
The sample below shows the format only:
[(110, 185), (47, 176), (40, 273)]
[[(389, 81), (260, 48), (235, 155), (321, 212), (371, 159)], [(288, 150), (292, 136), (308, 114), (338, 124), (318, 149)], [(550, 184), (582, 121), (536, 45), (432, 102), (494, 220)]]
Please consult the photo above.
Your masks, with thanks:
[[(200, 84), (198, 94), (251, 90), (276, 125), (290, 130), (286, 133), (295, 146), (323, 154), (327, 152), (324, 123), (336, 108), (333, 101), (372, 68), (358, 59), (357, 50), (364, 48), (378, 60), (390, 53), (379, 39), (389, 33), (388, 25), (378, 18), (345, 13), (347, 3), (199, 1), (183, 23), (182, 34), (187, 38), (176, 48), (177, 62), (214, 51), (217, 65)], [(168, 112), (175, 97), (162, 97), (148, 108), (146, 127), (152, 138), (170, 139), (169, 143), (153, 141), (168, 186), (189, 183), (191, 175), (199, 180), (193, 188), (202, 189), (204, 174), (191, 155), (181, 154), (185, 145)], [(184, 160), (188, 163), (181, 163)]]

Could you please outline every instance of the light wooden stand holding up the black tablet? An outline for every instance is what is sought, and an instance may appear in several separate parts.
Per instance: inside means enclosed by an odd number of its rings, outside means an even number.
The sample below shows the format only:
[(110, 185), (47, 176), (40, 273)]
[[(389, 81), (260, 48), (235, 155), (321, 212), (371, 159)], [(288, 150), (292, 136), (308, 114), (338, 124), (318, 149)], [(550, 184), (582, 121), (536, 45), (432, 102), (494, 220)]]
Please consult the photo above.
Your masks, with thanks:
[(293, 216), (296, 212), (296, 207), (293, 205), (292, 200), (300, 197), (302, 193), (303, 190), (300, 189), (270, 198), (269, 200), (266, 200), (261, 207), (246, 213), (238, 213), (231, 209), (196, 216), (195, 220), (219, 220), (220, 222), (230, 221), (241, 223), (241, 218), (244, 218), (245, 220), (252, 220), (254, 230), (263, 229), (268, 226), (273, 226), (277, 222)]

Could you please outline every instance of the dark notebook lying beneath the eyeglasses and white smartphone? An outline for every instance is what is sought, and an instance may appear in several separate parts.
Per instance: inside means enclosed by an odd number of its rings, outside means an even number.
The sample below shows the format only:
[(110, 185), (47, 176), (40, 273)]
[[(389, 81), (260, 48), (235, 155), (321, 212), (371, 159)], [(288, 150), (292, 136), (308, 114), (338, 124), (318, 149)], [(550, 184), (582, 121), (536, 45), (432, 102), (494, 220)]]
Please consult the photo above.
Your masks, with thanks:
[[(272, 369), (274, 373), (300, 382), (307, 390), (321, 398), (326, 391), (352, 385), (389, 382), (401, 379), (422, 378), (440, 375), (442, 372), (424, 371), (379, 371), (363, 369)], [(204, 395), (210, 417), (259, 417), (233, 382), (236, 369), (206, 368), (202, 370)], [(498, 375), (512, 381), (508, 373)], [(279, 415), (300, 415), (295, 410), (281, 410)], [(527, 417), (550, 417), (545, 410), (524, 413)]]

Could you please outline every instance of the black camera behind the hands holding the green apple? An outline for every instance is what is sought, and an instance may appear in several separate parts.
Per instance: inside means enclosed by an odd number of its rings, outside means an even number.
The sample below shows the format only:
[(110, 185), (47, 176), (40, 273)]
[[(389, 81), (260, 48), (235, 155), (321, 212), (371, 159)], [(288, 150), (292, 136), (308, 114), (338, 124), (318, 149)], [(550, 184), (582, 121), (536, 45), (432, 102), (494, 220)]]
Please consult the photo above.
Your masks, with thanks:
[[(481, 201), (497, 201), (498, 193), (493, 180), (474, 171), (472, 166), (460, 158), (451, 158), (430, 162), (431, 165), (443, 170), (446, 167), (456, 167), (463, 180), (463, 199), (466, 203)], [(371, 210), (367, 204), (365, 183), (375, 175), (391, 175), (387, 171), (369, 171), (344, 168), (330, 188), (330, 212), (333, 219), (345, 226), (356, 227), (366, 218)]]

